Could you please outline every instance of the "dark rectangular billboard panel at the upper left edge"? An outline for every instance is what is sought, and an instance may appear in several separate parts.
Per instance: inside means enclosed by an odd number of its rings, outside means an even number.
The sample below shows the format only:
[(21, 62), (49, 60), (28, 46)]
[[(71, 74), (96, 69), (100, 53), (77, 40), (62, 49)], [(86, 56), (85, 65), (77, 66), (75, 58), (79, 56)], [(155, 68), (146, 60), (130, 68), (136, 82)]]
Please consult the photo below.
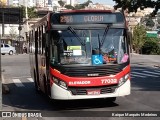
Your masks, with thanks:
[(0, 23), (4, 24), (22, 24), (22, 8), (0, 8)]

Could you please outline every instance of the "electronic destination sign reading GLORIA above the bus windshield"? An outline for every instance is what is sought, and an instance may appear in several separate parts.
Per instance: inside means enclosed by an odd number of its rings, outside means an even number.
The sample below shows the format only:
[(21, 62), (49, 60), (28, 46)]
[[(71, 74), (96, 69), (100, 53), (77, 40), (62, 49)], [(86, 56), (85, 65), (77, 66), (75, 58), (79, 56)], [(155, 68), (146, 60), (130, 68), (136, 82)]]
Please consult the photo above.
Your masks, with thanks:
[[(121, 17), (119, 17), (121, 16)], [(81, 24), (81, 23), (118, 23), (124, 22), (122, 15), (117, 14), (61, 14), (60, 24)]]

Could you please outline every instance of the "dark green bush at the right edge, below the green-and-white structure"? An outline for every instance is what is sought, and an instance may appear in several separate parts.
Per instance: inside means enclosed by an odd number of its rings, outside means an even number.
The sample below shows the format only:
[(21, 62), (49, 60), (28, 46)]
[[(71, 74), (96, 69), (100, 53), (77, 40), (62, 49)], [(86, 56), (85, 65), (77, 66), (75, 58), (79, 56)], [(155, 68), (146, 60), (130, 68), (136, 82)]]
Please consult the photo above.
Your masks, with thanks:
[(160, 55), (160, 40), (158, 38), (146, 38), (142, 47), (143, 54)]

